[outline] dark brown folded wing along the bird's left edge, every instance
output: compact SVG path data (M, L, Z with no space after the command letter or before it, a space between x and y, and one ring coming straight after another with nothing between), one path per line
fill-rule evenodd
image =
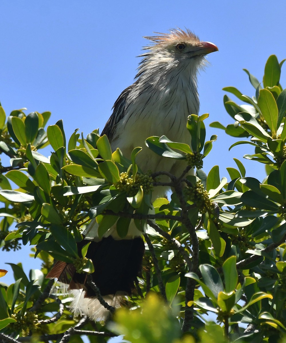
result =
M130 91L132 90L133 85L127 87L115 101L113 105L113 112L110 118L108 119L107 123L104 126L104 129L101 132L101 136L103 134L107 135L107 138L111 142L114 138L114 133L117 124L122 120L125 115L125 106L126 106L126 98L128 97Z

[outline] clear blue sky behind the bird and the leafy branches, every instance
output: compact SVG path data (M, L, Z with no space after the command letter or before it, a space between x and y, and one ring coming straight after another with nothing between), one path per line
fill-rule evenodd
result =
M207 124L218 120L227 125L232 119L223 107L222 87L253 95L242 68L262 80L268 56L286 58L285 13L285 0L2 1L0 101L7 114L22 107L27 113L51 111L50 125L63 119L68 137L76 128L85 135L102 129L114 101L133 82L139 62L135 56L147 44L142 36L186 27L219 48L199 76L200 114L210 113ZM218 164L221 177L227 177L225 167L235 167L232 158L242 161L249 147L228 152L235 140L207 128L207 137L212 134L218 140L204 168L208 172ZM243 162L247 176L263 179L263 170L257 169L261 165ZM35 268L39 264L24 259L28 251L0 251L1 261L23 261L25 270ZM12 282L11 274L1 281Z

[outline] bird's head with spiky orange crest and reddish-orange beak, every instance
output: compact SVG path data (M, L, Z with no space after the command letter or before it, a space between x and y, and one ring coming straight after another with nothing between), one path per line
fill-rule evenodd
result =
M194 69L202 67L205 56L218 51L216 45L210 42L201 42L188 29L172 29L169 33L158 33L158 36L144 37L155 44L144 47L147 50L141 56L141 67L178 67L180 64L191 65ZM193 69L193 68L192 68ZM193 70L194 70L193 69Z

